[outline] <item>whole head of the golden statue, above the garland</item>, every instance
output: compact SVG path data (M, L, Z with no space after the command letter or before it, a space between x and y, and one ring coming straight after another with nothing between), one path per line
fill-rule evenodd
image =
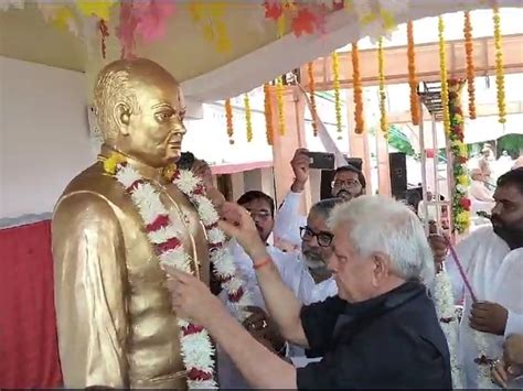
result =
M185 106L180 85L160 65L146 58L110 63L94 96L107 145L154 167L180 159Z

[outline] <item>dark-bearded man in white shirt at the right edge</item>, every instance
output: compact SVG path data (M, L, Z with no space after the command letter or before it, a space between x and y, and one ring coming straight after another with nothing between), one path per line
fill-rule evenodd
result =
M466 388L492 388L490 365L502 356L504 337L523 334L523 169L500 176L493 197L492 226L476 230L456 248L472 292L452 257L445 261L455 300L465 301L459 354ZM435 258L442 260L445 241L430 241Z

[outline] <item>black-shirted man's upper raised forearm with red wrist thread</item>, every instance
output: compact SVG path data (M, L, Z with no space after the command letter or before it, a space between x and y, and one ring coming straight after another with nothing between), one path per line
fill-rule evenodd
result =
M281 335L288 341L307 347L308 341L300 319L301 303L288 289L259 239L253 219L236 204L223 207L221 228L234 237L253 260L264 301Z

